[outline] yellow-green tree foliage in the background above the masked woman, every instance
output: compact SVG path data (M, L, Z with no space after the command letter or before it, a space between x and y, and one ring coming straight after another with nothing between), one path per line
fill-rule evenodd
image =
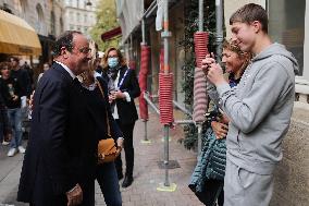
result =
M114 0L100 0L96 10L97 24L90 29L91 38L104 51L109 47L118 47L120 37L102 41L101 34L119 26Z

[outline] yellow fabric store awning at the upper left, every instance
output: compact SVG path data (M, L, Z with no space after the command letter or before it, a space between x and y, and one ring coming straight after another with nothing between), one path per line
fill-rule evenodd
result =
M0 10L0 53L41 54L41 45L35 29L24 20L2 10Z

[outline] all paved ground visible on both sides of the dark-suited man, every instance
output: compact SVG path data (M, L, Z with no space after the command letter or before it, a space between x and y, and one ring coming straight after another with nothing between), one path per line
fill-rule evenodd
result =
M175 192L159 192L159 183L164 182L164 170L158 161L163 160L162 125L154 113L148 121L150 145L144 145L144 122L138 120L134 131L135 168L134 182L127 189L121 189L123 206L199 206L202 205L187 187L189 177L196 163L196 154L186 150L177 141L183 137L181 126L170 130L170 160L177 160L181 168L169 170L170 182L177 185ZM0 206L27 206L17 203L16 192L22 168L23 155L7 157L7 147L0 146ZM120 182L122 183L122 181ZM103 206L103 196L96 185L96 205Z

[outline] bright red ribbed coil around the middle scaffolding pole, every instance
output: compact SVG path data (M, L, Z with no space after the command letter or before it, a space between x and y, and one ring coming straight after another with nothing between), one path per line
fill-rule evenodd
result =
M159 109L162 124L171 124L174 121L172 90L173 74L159 73Z

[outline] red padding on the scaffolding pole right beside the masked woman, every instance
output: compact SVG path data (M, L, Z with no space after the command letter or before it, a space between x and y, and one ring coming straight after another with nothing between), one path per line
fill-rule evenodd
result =
M148 105L144 98L144 93L147 90L147 74L149 66L150 47L143 45L140 47L140 71L138 75L138 83L140 87L139 96L139 114L143 120L148 120Z

